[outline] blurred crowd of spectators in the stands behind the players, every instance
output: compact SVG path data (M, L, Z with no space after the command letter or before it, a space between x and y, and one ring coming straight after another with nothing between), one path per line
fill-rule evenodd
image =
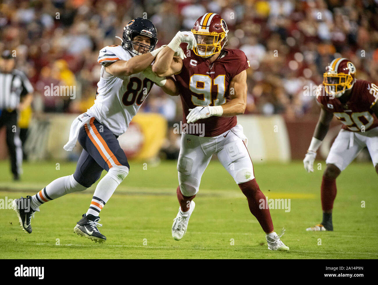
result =
M228 24L227 48L250 60L246 113L301 118L319 112L304 86L322 82L333 58L349 58L356 78L378 83L376 0L3 0L0 52L15 50L17 68L36 90L34 112L82 113L99 80L99 50L121 44L125 24L147 17L158 45L190 31L206 12ZM45 96L45 86L76 86L76 98ZM181 101L154 86L143 108L181 120Z

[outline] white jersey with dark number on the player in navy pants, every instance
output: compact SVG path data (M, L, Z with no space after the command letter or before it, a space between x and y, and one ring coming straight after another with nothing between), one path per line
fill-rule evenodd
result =
M122 46L113 45L101 49L97 60L102 64L101 76L97 83L95 104L89 111L117 136L126 132L153 85L142 72L116 77L105 71L104 64L130 58L132 55Z

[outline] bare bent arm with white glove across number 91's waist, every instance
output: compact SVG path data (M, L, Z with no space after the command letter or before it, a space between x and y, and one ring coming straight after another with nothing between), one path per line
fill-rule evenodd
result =
M246 70L232 78L229 84L229 94L231 100L222 106L198 106L194 109L189 109L189 114L186 116L187 123L194 123L211 116L232 117L243 114L247 106Z

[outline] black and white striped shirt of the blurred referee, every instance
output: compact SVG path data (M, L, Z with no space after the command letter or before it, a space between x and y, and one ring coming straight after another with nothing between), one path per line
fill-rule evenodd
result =
M20 104L20 98L32 92L33 86L20 70L0 72L0 110L16 109Z

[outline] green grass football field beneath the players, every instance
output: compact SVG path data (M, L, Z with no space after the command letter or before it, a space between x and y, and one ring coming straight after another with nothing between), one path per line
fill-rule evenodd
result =
M320 162L325 167L324 161ZM279 234L286 229L282 241L290 247L288 252L268 251L265 234L249 212L245 196L218 161L211 161L202 177L196 208L181 241L171 236L178 211L176 162L155 167L147 163L147 170L143 170L143 162L131 161L130 165L129 176L101 211L103 227L99 230L107 237L104 244L73 233L90 204L93 185L85 192L42 205L32 219L31 234L23 233L12 209L1 209L0 258L378 258L378 178L371 163L354 162L339 176L333 232L305 231L321 221L322 171L308 174L302 162L255 164L255 176L265 196L290 199L290 212L271 210L275 231ZM25 163L22 181L13 182L9 162L1 161L0 199L34 195L52 180L73 173L75 166L61 162L56 170L56 162Z

